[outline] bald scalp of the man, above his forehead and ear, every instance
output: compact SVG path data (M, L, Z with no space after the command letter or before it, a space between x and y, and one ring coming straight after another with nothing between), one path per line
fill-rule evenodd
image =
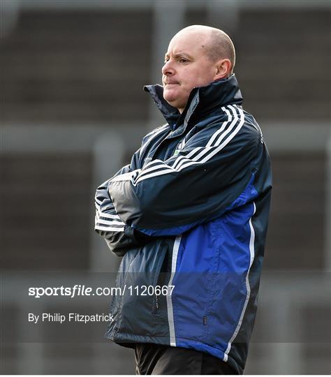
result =
M191 25L180 30L175 36L181 34L191 36L200 43L201 47L205 50L207 57L211 61L218 61L221 59L229 59L231 62L231 71L235 66L235 46L228 34L215 27L208 27L205 25Z

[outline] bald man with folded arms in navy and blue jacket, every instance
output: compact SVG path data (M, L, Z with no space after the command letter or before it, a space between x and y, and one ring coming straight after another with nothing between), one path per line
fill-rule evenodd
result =
M193 25L170 40L166 124L96 191L95 229L122 256L106 336L137 374L242 374L256 316L270 158L242 109L235 48Z

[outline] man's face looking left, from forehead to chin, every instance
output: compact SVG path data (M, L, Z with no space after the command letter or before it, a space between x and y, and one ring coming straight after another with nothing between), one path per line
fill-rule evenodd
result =
M215 64L208 59L208 36L180 31L170 41L162 68L163 98L182 112L194 87L214 81Z

